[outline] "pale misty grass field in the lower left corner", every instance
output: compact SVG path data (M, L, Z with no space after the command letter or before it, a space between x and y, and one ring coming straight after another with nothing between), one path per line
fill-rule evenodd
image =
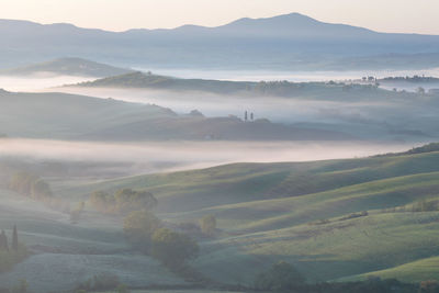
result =
M185 282L156 260L131 251L119 221L87 213L72 224L66 214L41 203L0 190L0 228L32 252L10 272L0 274L0 288L25 279L32 292L72 290L93 275L117 275L133 286L181 285Z

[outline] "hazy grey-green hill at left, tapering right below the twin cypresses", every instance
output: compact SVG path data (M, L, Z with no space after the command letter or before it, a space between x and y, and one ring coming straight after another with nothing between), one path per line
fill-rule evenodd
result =
M344 140L334 131L267 120L179 115L169 109L65 93L0 92L0 133L87 140Z

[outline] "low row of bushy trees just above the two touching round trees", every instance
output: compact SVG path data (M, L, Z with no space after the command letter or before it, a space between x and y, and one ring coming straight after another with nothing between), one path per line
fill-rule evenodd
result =
M126 215L135 211L153 210L157 205L157 199L147 191L121 189L114 194L103 191L93 192L90 204L101 213Z

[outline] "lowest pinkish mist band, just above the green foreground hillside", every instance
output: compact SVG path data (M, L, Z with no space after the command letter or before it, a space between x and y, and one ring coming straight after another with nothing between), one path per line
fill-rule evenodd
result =
M364 142L86 143L0 139L0 159L82 165L78 174L112 177L207 168L233 162L309 161L403 151L408 144ZM43 165L44 165L43 164ZM100 173L101 172L101 173ZM71 173L70 173L71 176Z

